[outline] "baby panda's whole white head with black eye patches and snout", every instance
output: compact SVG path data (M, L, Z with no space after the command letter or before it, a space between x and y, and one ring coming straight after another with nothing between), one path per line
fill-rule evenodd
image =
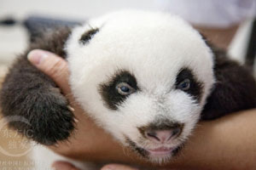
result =
M125 11L89 23L67 41L75 98L140 156L169 160L188 139L212 88L211 50L169 14Z

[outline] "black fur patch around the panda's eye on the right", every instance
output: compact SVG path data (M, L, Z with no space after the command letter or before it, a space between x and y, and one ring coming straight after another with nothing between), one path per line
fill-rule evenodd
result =
M177 74L176 82L175 82L176 88L178 89L178 85L186 79L189 79L190 86L189 86L189 89L187 89L184 92L190 94L197 101L200 101L201 94L203 91L203 83L196 80L195 75L188 68L183 68Z

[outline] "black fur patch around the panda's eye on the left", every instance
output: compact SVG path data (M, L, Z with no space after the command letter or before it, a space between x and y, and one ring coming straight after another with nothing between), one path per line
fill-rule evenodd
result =
M131 86L135 91L137 88L136 78L129 71L118 71L110 79L109 82L104 82L99 86L99 92L105 104L111 110L117 110L118 105L125 101L128 95L121 95L116 88L121 82L125 82Z

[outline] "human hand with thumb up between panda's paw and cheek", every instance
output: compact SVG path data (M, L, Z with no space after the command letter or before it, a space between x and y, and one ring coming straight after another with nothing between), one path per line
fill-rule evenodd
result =
M78 120L75 125L77 130L68 139L68 142L64 141L49 146L49 149L62 156L81 161L117 161L115 156L120 158L119 161L124 161L123 158L127 158L127 156L119 151L123 150L122 147L101 127L96 126L73 99L68 84L67 61L60 56L38 49L32 50L28 54L28 59L40 71L51 77L61 88L62 93L67 96L70 105L73 107L74 116ZM108 155L109 150L112 150L113 155ZM132 155L132 153L129 153L129 155Z

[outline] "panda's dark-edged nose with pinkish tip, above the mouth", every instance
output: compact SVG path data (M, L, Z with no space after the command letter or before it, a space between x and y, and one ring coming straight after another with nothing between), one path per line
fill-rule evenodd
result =
M139 127L138 129L144 138L154 143L168 144L173 139L177 139L183 132L183 124L172 123L169 125L160 124L159 126L151 124L148 127Z

